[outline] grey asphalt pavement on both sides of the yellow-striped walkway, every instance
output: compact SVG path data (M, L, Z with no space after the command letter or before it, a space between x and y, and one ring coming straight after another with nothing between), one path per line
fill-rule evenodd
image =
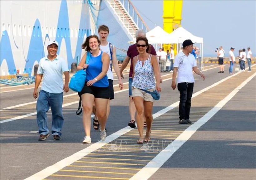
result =
M214 67L218 66L208 68ZM200 76L194 75L194 93L230 76L227 73L228 66L225 66L224 74L218 74L218 71L219 69L215 68L204 72L205 81ZM251 75L254 72L255 70ZM161 73L161 75L167 74ZM127 75L123 82L128 82ZM166 80L161 84L161 99L154 103L153 114L179 100L178 90L172 90L170 83L171 80ZM114 85L116 84L117 80L114 80ZM6 89L1 89L1 109L35 101L32 97L33 86L31 87L12 92L2 92ZM28 87L21 87L21 89L26 88ZM70 91L64 95L72 93L74 92ZM127 127L130 120L128 100L128 90L116 93L115 99L111 100L107 135ZM63 108L65 122L61 141L53 141L50 136L46 141L39 142L35 115L1 123L1 179L28 178L86 148L80 143L84 138L84 130L81 116L75 114L77 106L78 104L73 104ZM255 109L254 77L217 114L201 126L150 179L256 179ZM35 111L36 109L33 109L30 113ZM47 115L51 129L51 112L49 111ZM178 117L176 113L172 120L178 121ZM99 131L91 128L93 142L100 139L99 134ZM51 177L51 179L64 178ZM81 177L68 179L81 179Z

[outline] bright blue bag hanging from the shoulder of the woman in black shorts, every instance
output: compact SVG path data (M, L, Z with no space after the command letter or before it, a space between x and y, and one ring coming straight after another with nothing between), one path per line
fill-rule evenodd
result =
M88 64L91 53L87 51L86 64ZM86 70L81 69L77 71L71 78L69 88L75 92L81 92L86 81Z

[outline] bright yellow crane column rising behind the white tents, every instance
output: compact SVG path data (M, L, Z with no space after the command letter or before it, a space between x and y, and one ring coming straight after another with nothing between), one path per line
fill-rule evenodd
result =
M182 13L182 0L164 0L163 4L163 29L171 33L176 28L180 27L181 13ZM177 54L176 44L164 44L163 48L165 51L170 50L170 46L174 48L174 53Z

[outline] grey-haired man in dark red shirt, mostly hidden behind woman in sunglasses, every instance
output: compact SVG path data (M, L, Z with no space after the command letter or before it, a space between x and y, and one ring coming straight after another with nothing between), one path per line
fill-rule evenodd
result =
M135 33L135 37L137 39L138 37L141 37L141 36L142 37L146 37L146 33L145 33L145 31L143 29L138 29L136 31L136 33ZM153 54L153 55L156 56L155 48L151 44L150 44L150 52L148 52L148 53ZM131 128L135 128L136 127L135 126L136 108L135 108L134 102L133 102L133 100L131 98L131 84L132 84L132 73L133 73L132 59L133 59L133 57L135 57L137 55L139 55L139 53L138 53L138 51L136 49L136 44L133 44L133 45L129 46L128 51L127 51L127 56L126 56L125 60L123 61L121 69L120 69L121 76L123 76L122 72L124 71L124 69L128 65L129 61L131 60L130 73L129 73L129 97L130 97L129 112L130 112L131 120L128 123L128 125ZM144 122L144 127L147 127L146 122Z

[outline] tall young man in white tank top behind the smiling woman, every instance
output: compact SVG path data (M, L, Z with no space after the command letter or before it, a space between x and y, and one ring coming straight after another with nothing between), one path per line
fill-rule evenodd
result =
M109 82L109 91L110 91L110 94L109 94L110 98L108 100L108 106L107 106L107 117L108 117L109 113L110 113L110 100L114 99L114 87L113 87L114 75L112 72L112 64L113 64L115 73L118 78L118 84L119 84L120 90L123 89L124 85L122 83L119 66L118 66L118 61L116 59L116 47L107 41L107 37L109 34L109 28L106 25L101 25L98 28L98 34L99 34L100 41L101 41L101 45L100 45L101 51L106 52L110 57L110 64L109 64L109 68L107 71L108 82ZM93 113L96 114L96 109L94 108L94 106L93 106ZM95 118L93 119L93 128L98 130L99 127L100 127L100 125L98 122L98 118L95 116Z

